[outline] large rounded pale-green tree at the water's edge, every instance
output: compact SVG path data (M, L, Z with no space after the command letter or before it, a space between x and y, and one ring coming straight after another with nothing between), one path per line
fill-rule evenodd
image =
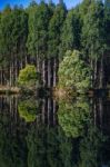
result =
M77 50L67 51L59 66L59 87L70 91L86 92L91 85L91 69Z

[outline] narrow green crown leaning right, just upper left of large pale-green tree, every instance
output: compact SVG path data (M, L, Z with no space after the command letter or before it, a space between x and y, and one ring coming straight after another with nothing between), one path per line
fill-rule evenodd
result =
M56 58L59 56L59 43L61 42L61 32L66 16L67 9L64 6L62 3L58 4L49 22L48 57Z

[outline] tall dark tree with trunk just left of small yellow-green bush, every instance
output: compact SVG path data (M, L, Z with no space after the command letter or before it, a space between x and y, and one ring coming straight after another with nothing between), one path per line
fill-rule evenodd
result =
M17 77L19 70L27 63L27 49L26 42L28 38L28 14L23 9L14 7L11 18L12 31L11 31L11 42L12 42L12 70L13 70L13 84L17 82Z

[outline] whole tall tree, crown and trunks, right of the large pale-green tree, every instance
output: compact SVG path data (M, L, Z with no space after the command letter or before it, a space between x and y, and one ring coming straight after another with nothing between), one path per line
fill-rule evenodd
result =
M86 60L93 69L92 81L94 87L103 86L103 53L104 40L104 8L102 1L92 1L83 17L82 51ZM99 68L98 68L99 67Z

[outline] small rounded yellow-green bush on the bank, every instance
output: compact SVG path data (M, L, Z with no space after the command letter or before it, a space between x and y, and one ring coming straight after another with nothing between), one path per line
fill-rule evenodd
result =
M21 87L38 87L39 86L39 73L32 65L27 65L24 69L20 70L18 84Z

